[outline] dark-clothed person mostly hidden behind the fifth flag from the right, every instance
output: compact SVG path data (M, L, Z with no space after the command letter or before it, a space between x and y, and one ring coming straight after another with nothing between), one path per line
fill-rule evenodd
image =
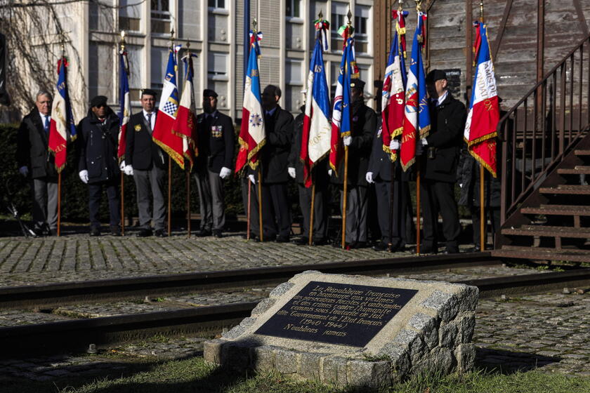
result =
M295 241L296 244L309 244L309 225L311 211L312 187L306 187L303 182L303 162L299 159L301 155L301 134L303 133L303 118L305 117L305 105L301 107L301 113L295 118L293 142L289 153L289 176L297 182L299 190L299 207L303 215L303 227L301 238ZM329 175L327 173L327 158L319 161L313 169L313 181L315 182L315 199L313 201L313 244L321 246L327 244L328 232L328 204L329 204Z

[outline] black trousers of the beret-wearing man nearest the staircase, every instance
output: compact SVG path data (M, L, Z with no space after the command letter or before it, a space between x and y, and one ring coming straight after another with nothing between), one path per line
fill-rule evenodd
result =
M438 248L438 215L442 216L442 234L447 241L447 251L457 252L457 239L461 232L459 212L454 199L454 183L422 179L420 182L422 218L424 220L424 237L421 246L426 249Z

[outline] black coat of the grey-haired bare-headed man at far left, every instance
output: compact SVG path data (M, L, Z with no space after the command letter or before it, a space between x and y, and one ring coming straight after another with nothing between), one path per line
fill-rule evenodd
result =
M16 161L18 168L27 166L33 179L57 177L55 159L48 151L49 135L41 124L37 108L22 119L16 140Z

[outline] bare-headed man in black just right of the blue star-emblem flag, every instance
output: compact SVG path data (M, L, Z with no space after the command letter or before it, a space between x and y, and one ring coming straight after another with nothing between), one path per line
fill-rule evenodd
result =
M293 116L282 109L278 102L281 89L268 85L262 93L266 142L261 149L262 216L264 240L289 241L291 233L291 207L287 195L287 166L293 138ZM258 175L250 171L251 182ZM276 218L276 220L275 220Z

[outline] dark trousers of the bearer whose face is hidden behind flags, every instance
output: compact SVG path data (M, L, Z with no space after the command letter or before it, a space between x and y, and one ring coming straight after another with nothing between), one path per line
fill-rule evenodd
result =
M391 244L393 247L403 247L410 241L407 239L408 232L408 201L409 187L407 182L394 180L393 182L393 216L391 216L391 182L388 180L375 180L375 192L377 194L377 208L379 227L381 228L381 241L390 242L389 228L391 227ZM390 218L393 222L390 224ZM412 222L412 217L409 217Z

